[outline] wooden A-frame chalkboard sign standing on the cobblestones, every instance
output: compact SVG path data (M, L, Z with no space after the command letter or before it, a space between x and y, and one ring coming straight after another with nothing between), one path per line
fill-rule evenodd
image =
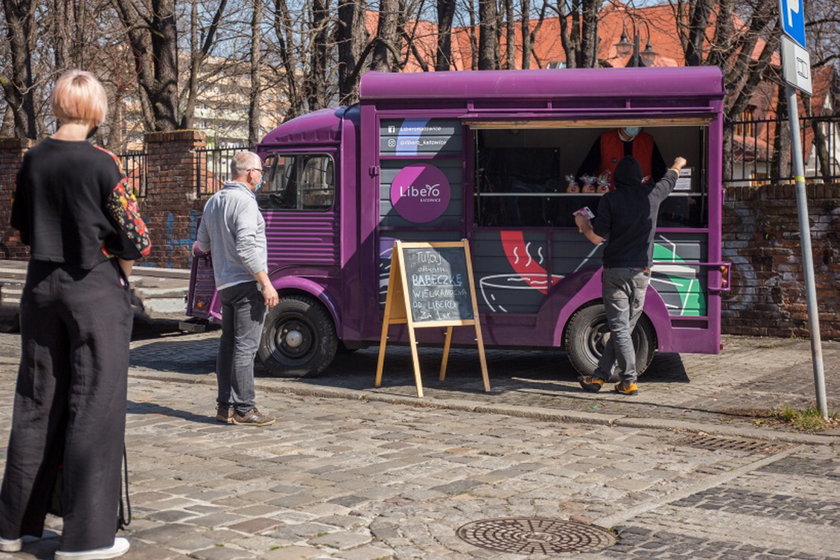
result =
M474 325L484 390L490 390L478 303L473 286L472 260L466 239L439 243L394 243L374 386L382 385L382 369L385 364L385 347L388 344L390 325L408 327L408 343L414 364L418 397L423 396L423 381L420 377L420 359L417 355L414 330L423 327L446 327L443 359L438 374L438 379L443 381L446 378L446 365L452 344L452 328Z

